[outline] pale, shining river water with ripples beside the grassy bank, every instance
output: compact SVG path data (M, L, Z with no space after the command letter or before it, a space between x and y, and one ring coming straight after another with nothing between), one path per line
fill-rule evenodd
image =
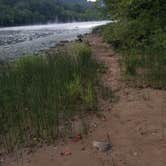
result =
M55 46L60 41L75 40L94 27L110 21L76 22L0 28L0 60L30 55Z

